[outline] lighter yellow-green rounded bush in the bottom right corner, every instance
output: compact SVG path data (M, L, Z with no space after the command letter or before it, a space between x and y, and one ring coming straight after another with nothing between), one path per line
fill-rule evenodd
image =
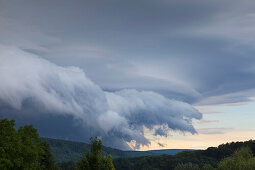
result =
M243 147L230 157L223 159L218 166L218 170L254 170L255 158L250 148Z

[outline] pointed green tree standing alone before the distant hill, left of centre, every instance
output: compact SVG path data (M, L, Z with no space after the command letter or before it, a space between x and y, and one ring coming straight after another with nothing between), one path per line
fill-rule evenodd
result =
M90 152L82 155L82 158L77 162L77 170L115 170L111 155L103 156L102 140L90 138Z

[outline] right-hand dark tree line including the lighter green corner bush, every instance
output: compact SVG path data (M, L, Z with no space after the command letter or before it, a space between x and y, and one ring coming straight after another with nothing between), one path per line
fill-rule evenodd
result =
M117 170L254 170L255 141L231 142L206 150L113 160Z

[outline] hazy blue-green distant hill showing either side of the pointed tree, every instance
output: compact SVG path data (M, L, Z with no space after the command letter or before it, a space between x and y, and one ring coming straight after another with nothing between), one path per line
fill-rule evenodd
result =
M83 142L74 142L61 139L43 138L49 143L51 151L58 162L64 161L76 161L80 158L84 149L89 150L90 145ZM182 151L190 151L191 149L162 149L162 150L150 150L150 151L122 151L110 147L103 146L103 153L111 154L113 158L126 158L135 156L147 156L147 155L175 155Z

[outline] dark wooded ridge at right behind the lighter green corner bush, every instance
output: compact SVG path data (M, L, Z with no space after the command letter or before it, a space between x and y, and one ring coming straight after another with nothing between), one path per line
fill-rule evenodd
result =
M206 150L184 151L174 156L154 155L117 158L113 160L113 163L117 170L174 170L177 166L179 169L181 169L181 167L192 166L192 168L196 168L198 166L200 169L210 170L217 168L221 160L231 156L236 150L242 147L250 148L251 154L254 155L255 141L250 140L246 142L222 144L218 147L210 147Z

